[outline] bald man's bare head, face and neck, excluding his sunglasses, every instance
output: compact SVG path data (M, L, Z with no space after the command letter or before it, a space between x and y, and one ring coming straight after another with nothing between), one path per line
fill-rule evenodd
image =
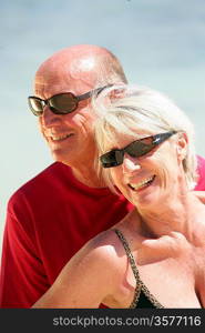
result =
M125 81L117 60L106 49L76 46L54 53L42 63L35 74L34 93L41 99L68 91L80 95L122 79ZM54 160L70 165L82 183L101 188L104 183L98 179L93 167L96 154L94 120L95 113L89 99L81 101L74 112L65 115L54 114L45 107L39 125ZM64 139L54 141L54 137Z

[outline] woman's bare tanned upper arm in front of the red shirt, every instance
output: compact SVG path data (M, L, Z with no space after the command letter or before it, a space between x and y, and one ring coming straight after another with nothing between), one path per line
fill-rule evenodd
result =
M32 307L99 307L116 282L110 246L89 242L62 269L53 285Z

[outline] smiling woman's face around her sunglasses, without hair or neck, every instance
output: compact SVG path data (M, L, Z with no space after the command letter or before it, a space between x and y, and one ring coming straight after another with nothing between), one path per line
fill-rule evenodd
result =
M141 133L140 138L148 135ZM110 169L114 184L137 208L162 205L164 200L178 193L182 184L185 185L181 155L186 142L185 139L183 142L178 140L177 135L174 134L143 157L132 158L125 153L123 163ZM117 147L109 150L122 149L132 141L129 137L121 138Z

